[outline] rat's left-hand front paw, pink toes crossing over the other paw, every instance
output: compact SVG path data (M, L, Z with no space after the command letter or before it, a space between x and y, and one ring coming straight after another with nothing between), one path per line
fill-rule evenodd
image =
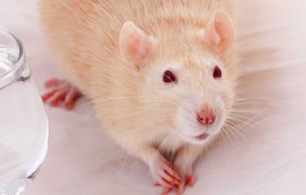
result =
M156 182L155 185L162 185L170 190L180 185L181 179L178 173L170 168L170 163L163 157L158 157L150 164L150 172Z

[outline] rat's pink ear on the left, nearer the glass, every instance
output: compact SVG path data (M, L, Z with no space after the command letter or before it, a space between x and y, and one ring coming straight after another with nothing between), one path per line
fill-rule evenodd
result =
M121 28L119 47L127 60L138 64L149 55L152 41L144 31L128 21Z

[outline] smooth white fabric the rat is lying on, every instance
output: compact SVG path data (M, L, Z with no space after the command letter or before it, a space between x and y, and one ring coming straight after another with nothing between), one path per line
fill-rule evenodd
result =
M239 94L257 102L244 101L239 106L261 112L241 113L254 121L246 120L251 126L241 122L244 131L235 127L249 143L239 133L233 132L235 138L228 132L231 140L224 134L224 141L208 147L195 166L194 187L184 194L306 194L305 10L306 2L297 0L238 3L236 43L241 63L247 67L240 87L267 84ZM59 74L38 28L36 1L1 1L0 16L0 24L22 39L33 75L44 92L44 80ZM83 98L78 105L86 101ZM47 106L47 113L49 153L24 194L161 192L160 187L152 186L148 167L103 133L90 105L69 112Z

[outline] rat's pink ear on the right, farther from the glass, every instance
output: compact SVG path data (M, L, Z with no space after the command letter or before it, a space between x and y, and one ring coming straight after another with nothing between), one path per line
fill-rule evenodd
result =
M208 21L201 36L222 51L231 48L234 41L234 25L229 15L223 10L217 10Z

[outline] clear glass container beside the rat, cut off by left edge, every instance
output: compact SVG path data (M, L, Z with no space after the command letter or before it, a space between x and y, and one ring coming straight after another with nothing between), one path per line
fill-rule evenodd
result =
M0 195L32 182L48 148L48 120L19 38L0 27Z

